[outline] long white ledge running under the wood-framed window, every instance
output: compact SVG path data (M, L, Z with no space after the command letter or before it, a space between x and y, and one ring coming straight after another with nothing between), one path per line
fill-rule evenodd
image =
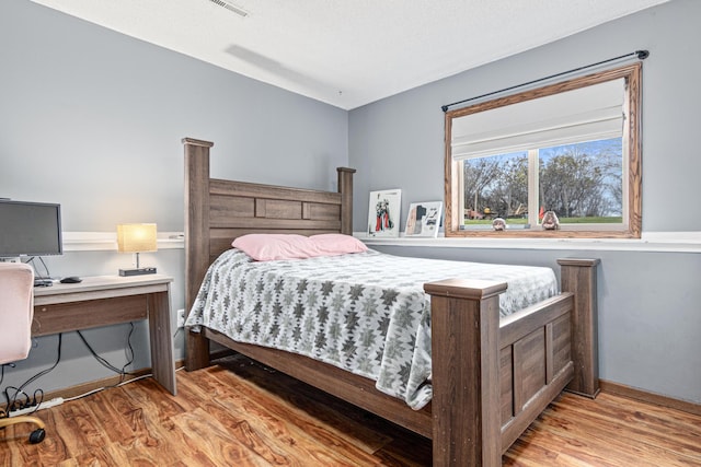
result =
M439 234L441 235L441 234ZM701 253L701 232L643 232L642 238L483 238L483 237L371 237L354 236L368 246L417 246L482 249L568 249L611 252Z

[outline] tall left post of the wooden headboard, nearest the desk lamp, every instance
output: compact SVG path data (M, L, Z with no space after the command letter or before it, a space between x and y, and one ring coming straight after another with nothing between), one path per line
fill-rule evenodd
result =
M184 138L185 145L185 313L195 302L209 266L209 141ZM185 369L209 365L209 340L185 332Z

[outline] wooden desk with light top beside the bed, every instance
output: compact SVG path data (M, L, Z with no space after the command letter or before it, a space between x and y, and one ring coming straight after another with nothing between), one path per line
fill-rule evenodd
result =
M170 283L161 275L85 277L34 289L32 336L149 319L153 378L175 395Z

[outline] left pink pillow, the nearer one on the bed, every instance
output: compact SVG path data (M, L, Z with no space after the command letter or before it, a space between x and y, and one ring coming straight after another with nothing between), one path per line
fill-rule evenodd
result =
M231 246L257 261L304 259L319 256L313 243L304 235L248 234L235 238Z

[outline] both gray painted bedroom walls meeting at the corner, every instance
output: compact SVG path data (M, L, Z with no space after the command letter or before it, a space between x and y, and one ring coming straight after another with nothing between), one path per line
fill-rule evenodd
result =
M691 55L701 39L698 17L701 2L673 0L346 113L28 0L2 1L0 197L61 202L69 232L114 232L120 222L181 231L180 140L193 137L215 141L214 176L335 189L334 167L356 167L354 225L363 231L369 190L402 188L404 213L409 202L443 199L443 104L646 48L652 55L643 71L643 227L701 231L694 138L701 66ZM701 401L697 254L381 249L550 266L560 256L599 257L601 376ZM184 302L183 252L143 256L175 278L174 313ZM124 267L124 257L70 252L47 262L54 276L106 275ZM127 332L128 326L112 326L87 337L122 365ZM38 339L31 358L8 371L3 386L50 366L56 340ZM147 341L141 323L133 337L135 369L149 364ZM176 342L182 357L181 336ZM32 389L111 374L74 335L66 336L61 359Z

